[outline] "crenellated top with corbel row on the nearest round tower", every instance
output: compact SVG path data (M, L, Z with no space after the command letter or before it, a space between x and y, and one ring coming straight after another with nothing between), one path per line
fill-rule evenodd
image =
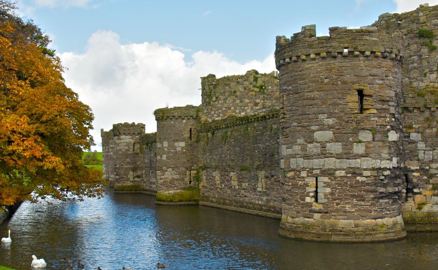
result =
M277 36L275 62L277 69L291 62L323 58L376 57L401 61L404 56L403 34L379 31L377 27L359 29L330 27L329 35L316 37L316 26L305 25L290 39Z

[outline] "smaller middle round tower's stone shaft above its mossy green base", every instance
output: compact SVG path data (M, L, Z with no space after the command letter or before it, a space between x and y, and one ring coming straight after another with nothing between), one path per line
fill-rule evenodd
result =
M155 110L157 193L176 193L194 185L197 113L198 107L192 105Z

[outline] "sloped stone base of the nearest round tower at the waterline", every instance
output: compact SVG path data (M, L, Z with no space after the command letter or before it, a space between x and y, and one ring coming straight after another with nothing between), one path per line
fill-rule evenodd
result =
M283 215L279 233L289 238L320 242L382 242L406 237L401 215L362 220L287 218Z

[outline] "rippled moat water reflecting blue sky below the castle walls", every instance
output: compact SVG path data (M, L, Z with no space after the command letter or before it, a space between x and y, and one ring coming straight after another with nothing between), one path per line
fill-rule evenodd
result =
M0 265L31 269L32 255L47 269L434 269L438 233L405 240L329 244L278 236L280 221L208 207L155 205L145 194L109 192L83 202L23 203L0 225L12 243L0 246ZM73 265L73 264L72 264ZM75 266L75 269L76 266Z

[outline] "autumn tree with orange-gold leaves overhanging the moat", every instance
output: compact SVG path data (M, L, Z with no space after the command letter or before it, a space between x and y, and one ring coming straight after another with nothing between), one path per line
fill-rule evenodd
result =
M0 205L52 196L101 196L101 173L85 168L93 114L66 87L50 39L0 0Z

